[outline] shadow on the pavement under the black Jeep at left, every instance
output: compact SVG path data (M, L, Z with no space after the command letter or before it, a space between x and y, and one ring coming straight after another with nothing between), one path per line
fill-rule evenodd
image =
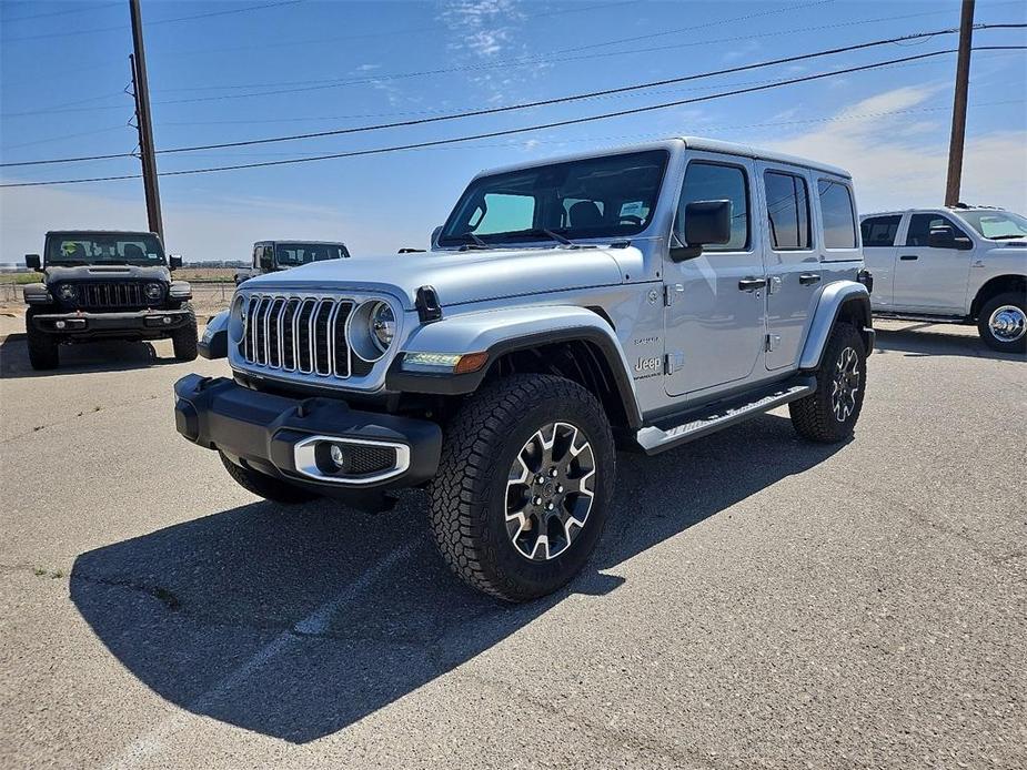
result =
M122 372L173 363L174 358L159 356L148 342L98 341L61 345L60 366L37 372L29 363L29 348L23 334L11 334L0 341L0 379Z

